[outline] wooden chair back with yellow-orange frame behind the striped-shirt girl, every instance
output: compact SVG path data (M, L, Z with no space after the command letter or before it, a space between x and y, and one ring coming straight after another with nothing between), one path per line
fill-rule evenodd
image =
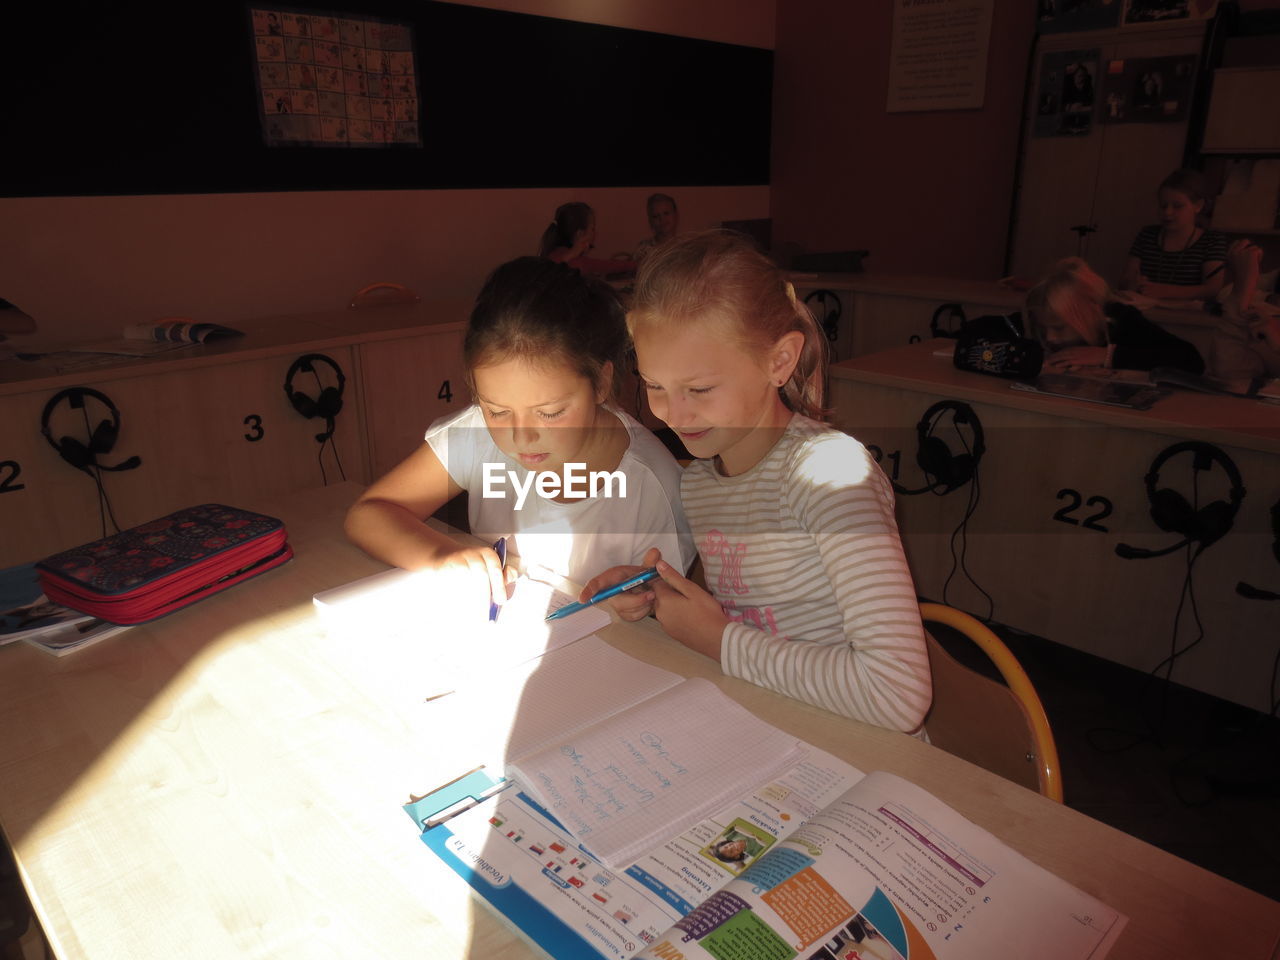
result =
M984 677L948 654L925 631L933 671L933 705L924 721L942 750L1006 780L1062 801L1062 773L1053 731L1036 687L1004 641L964 611L922 603L925 626L957 630L991 658L1005 684Z

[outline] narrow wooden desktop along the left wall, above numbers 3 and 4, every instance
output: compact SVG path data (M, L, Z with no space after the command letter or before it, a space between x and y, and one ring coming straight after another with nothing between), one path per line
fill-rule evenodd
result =
M285 353L323 353L353 343L392 340L431 330L461 330L466 326L471 306L470 301L447 300L265 316L228 324L243 332L243 337L229 337L151 357L120 357L104 366L65 372L58 372L38 360L0 360L0 397L32 390L58 390L86 380L102 383ZM13 342L9 346L19 352L41 352L69 349L73 344L37 347Z

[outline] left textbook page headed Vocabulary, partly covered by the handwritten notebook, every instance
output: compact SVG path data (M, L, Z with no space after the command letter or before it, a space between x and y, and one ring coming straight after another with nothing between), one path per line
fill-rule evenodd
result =
M782 776L618 868L602 864L547 810L512 791L425 828L422 842L557 960L626 960L860 776L810 750ZM483 792L483 783L470 786ZM452 799L426 797L404 809L424 827Z

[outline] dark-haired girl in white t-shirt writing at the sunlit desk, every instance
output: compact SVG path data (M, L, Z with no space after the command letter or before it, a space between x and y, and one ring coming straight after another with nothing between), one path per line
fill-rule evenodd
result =
M499 266L463 340L475 402L431 424L426 443L361 495L347 535L406 570L472 570L502 603L498 554L422 522L466 490L471 532L509 538L530 572L582 582L654 544L687 568L680 466L611 403L626 348L622 306L603 282L540 257ZM589 484L593 472L613 476Z

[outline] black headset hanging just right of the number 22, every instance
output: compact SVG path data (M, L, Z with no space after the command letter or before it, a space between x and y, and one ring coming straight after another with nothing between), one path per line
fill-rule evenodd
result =
M1231 484L1231 492L1225 500L1213 500L1201 508L1192 507L1178 490L1171 486L1160 486L1160 468L1179 453L1193 453L1192 470L1211 470L1213 463L1222 467ZM1164 547L1158 550L1148 550L1142 547L1129 544L1116 544L1116 554L1125 559L1148 559L1151 557L1164 557L1189 543L1198 543L1196 554L1206 547L1221 540L1231 529L1231 522L1240 509L1240 500L1244 499L1244 484L1240 480L1240 471L1231 458L1220 448L1211 443L1199 440L1184 440L1166 447L1152 461L1151 470L1144 477L1147 484L1147 500L1151 503L1151 518L1161 530L1179 534L1183 539L1172 547Z

